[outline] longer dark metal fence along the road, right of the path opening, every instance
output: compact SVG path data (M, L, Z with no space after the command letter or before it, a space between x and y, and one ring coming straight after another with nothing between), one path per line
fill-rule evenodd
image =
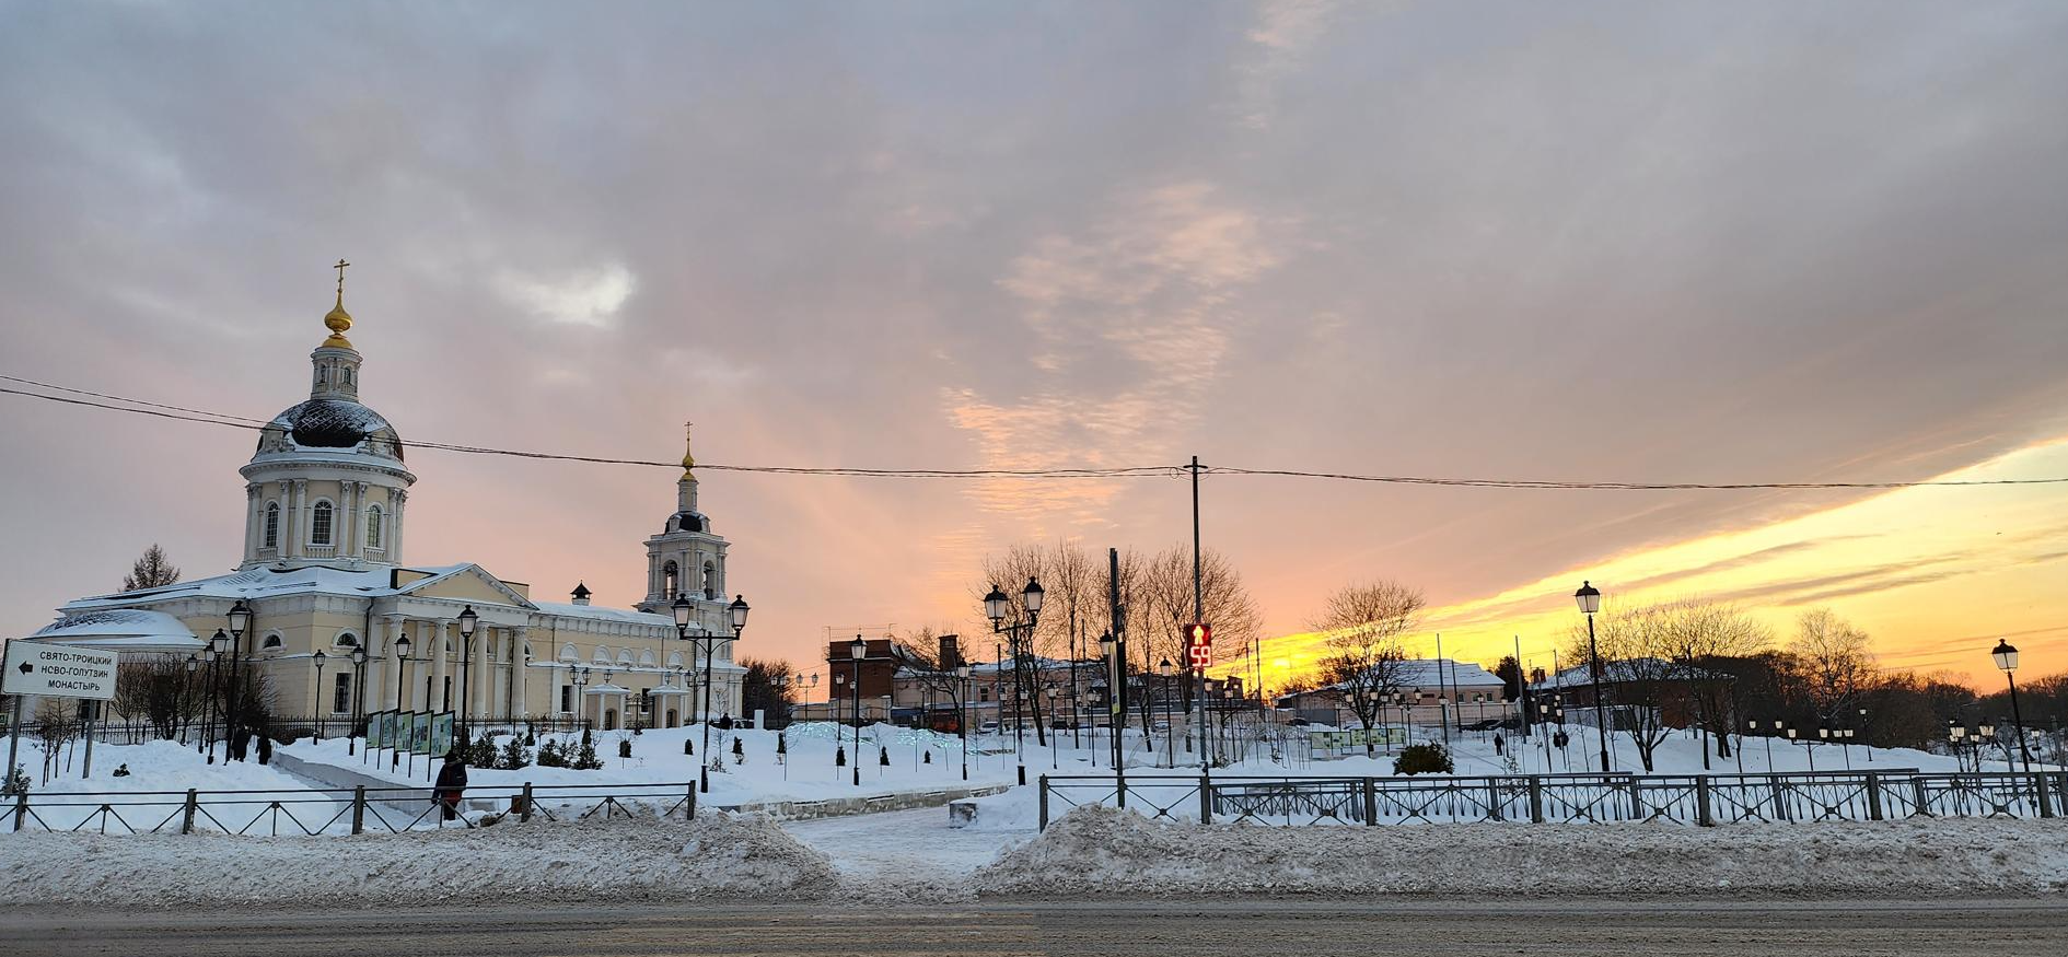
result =
M2068 816L2068 773L1830 771L1766 775L1206 777L1044 775L1040 827L1088 804L1152 819L1301 825L1681 825Z

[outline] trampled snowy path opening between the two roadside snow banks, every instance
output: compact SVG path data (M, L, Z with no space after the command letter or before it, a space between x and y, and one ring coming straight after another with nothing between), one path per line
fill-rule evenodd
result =
M976 868L1007 843L1034 837L1032 829L947 827L947 808L792 821L782 829L831 858L850 893L904 887L947 899L972 897L968 878Z

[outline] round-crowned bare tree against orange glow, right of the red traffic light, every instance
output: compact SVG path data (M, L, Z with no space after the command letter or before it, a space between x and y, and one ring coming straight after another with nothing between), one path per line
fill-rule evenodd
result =
M1321 674L1336 699L1365 726L1365 754L1373 754L1371 726L1381 699L1400 688L1406 651L1400 637L1421 622L1423 593L1394 583L1346 585L1328 595L1328 608L1309 626L1324 635L1328 657Z

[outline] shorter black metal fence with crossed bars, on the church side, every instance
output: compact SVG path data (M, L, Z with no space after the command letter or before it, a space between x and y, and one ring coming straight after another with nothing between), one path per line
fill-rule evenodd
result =
M467 788L447 821L430 788L256 792L25 792L0 802L0 833L360 835L478 827L484 816L583 821L697 814L697 781Z

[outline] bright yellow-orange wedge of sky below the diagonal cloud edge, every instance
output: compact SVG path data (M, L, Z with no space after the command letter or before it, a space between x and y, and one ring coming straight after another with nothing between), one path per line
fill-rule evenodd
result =
M1940 482L2068 473L2068 436L1938 475ZM1497 595L1433 608L1410 657L1489 670L1520 641L1524 670L1553 670L1553 649L1582 622L1572 591L1588 579L1611 601L1735 601L1787 647L1795 618L1830 606L1874 637L1884 670L1954 672L1983 692L2002 684L1989 647L2008 637L2020 676L2068 670L2068 486L1900 488L1768 525L1640 548ZM1264 684L1309 678L1326 655L1315 632L1264 641ZM1572 666L1572 661L1557 661ZM1241 674L1224 661L1216 674Z

